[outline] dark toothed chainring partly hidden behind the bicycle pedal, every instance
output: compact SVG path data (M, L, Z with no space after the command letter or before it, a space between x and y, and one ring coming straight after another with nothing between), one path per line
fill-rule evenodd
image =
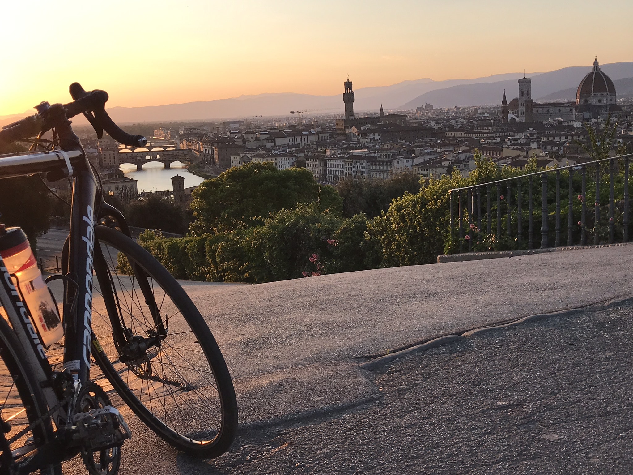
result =
M90 381L79 391L75 413L110 406L110 398L97 383ZM95 452L82 450L84 465L91 475L116 475L121 464L121 448L111 447Z

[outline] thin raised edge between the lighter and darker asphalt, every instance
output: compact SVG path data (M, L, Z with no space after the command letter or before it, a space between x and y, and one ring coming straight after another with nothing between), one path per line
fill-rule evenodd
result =
M430 339L429 341L425 341L425 343L421 343L420 345L410 346L409 348L404 348L404 350L399 350L398 352L389 353L388 355L384 355L381 357L377 357L373 360L370 360L365 363L361 363L358 365L361 369L366 371L373 371L382 367L386 364L391 363L394 360L399 360L400 358L407 357L409 355L415 355L415 353L425 352L426 350L430 350L432 348L437 348L439 346L447 345L448 343L453 343L454 341L461 341L466 338L470 338L475 335L480 335L483 333L487 333L489 331L505 329L508 327L518 326L528 322L534 322L536 320L548 319L552 317L562 317L564 315L572 315L578 312L595 312L596 310L604 310L606 308L615 307L616 305L622 305L623 303L633 303L633 294L625 295L622 297L617 297L611 300L603 301L603 302L595 302L590 303L589 305L585 305L584 307L577 308L568 308L566 310L557 310L556 312L551 312L549 314L534 314L528 315L527 317L522 317L517 320L513 320L511 322L500 322L499 324L492 324L487 327L477 327L471 330L465 331L460 335L445 335L439 336L437 338Z

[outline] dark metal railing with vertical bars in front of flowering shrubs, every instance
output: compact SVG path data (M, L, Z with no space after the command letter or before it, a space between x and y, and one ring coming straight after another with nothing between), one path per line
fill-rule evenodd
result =
M541 182L541 200L536 206L540 204L541 208L541 248L548 248L552 243L561 246L565 232L561 203L567 208L563 210L567 214L567 246L586 245L591 234L595 245L628 242L631 156L633 154L613 156L449 190L451 250L533 249L534 194L538 191L538 181ZM561 187L561 179L567 181L567 186L563 182ZM608 198L604 187L607 185ZM618 196L615 196L616 187ZM595 195L593 206L587 205L588 192ZM486 201L483 210L482 198ZM608 205L601 204L607 200Z

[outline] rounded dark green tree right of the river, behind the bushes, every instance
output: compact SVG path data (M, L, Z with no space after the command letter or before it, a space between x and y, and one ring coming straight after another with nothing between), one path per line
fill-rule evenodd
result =
M263 222L270 213L298 203L318 203L340 213L342 200L331 186L315 182L306 168L277 170L272 163L247 163L204 181L193 193L195 234L218 233Z

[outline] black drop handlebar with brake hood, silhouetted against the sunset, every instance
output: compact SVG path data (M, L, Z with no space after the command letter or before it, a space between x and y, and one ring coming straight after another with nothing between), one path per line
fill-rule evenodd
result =
M97 137L101 138L101 131L105 130L110 137L119 143L129 146L146 146L147 139L145 137L128 134L108 116L105 109L106 101L108 101L108 92L100 91L99 89L84 91L84 88L78 82L73 82L69 89L70 95L75 100L63 105L66 111L66 118L83 114L94 127ZM46 132L46 130L54 127L54 125L47 124L46 110L46 108L42 108L35 115L25 117L3 127L3 130L0 130L0 143L19 141L20 139L35 136L40 132Z

